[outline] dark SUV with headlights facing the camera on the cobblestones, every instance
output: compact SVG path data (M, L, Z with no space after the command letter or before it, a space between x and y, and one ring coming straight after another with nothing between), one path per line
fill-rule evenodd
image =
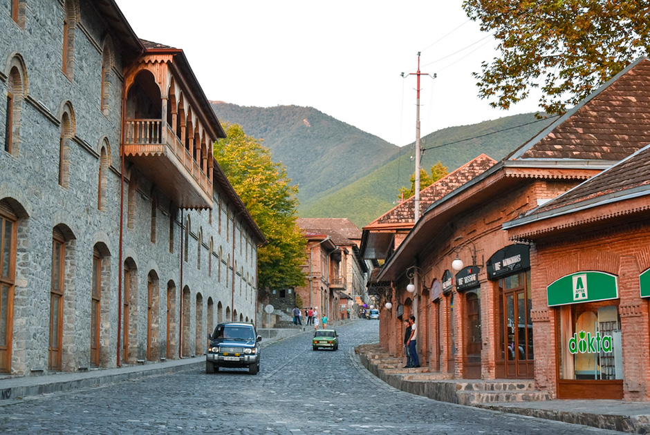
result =
M250 323L220 323L214 334L207 334L210 346L205 355L205 373L219 367L248 367L248 373L259 371L259 342L262 337Z

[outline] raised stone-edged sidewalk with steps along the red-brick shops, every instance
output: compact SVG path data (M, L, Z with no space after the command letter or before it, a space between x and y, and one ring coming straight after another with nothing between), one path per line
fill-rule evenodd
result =
M427 367L400 368L404 365L404 358L393 358L376 344L358 346L355 351L366 369L385 383L404 392L498 412L631 434L650 434L650 402L536 400L540 394L544 396L546 392L527 390L523 380L513 383L511 380L449 379L446 374L430 372ZM488 390L490 387L486 385L491 387L490 391L477 390ZM505 401L504 398L510 401ZM531 398L533 400L530 400Z

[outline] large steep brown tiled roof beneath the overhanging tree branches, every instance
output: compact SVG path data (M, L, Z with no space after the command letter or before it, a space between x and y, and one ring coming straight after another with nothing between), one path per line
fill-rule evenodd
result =
M622 160L650 143L650 60L642 57L510 159Z

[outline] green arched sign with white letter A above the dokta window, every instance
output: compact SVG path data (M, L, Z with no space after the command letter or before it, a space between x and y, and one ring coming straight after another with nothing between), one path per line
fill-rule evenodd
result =
M577 272L546 287L549 307L618 299L618 277L604 272Z

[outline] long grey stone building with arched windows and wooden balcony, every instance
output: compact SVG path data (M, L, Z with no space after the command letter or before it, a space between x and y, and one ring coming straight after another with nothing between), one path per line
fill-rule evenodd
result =
M255 322L264 237L183 51L113 0L0 6L0 371L203 354Z

